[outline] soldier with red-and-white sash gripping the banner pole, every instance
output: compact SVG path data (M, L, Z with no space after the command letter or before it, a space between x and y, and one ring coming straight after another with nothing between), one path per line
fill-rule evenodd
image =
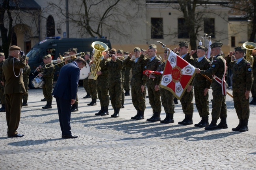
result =
M215 42L211 44L211 54L213 57L213 62L210 69L200 70L197 68L196 72L200 74L205 74L207 76L216 76L220 80L226 75L226 61L221 56L221 46L222 42ZM217 79L218 79L217 78ZM217 80L213 80L211 83L212 87L212 110L211 110L211 123L209 126L205 127L205 130L213 130L217 128L228 128L226 123L227 118L227 107L226 107L226 95L223 93L223 88L226 88L226 84L223 82L224 86L221 86ZM221 122L217 125L218 119L221 118Z

